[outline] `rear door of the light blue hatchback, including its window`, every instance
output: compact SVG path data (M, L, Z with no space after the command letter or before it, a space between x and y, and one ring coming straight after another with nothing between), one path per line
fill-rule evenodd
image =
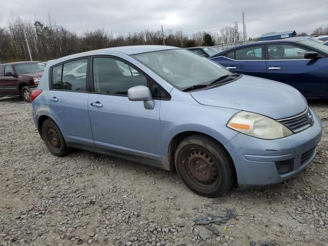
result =
M51 67L48 106L67 142L94 147L88 112L89 58ZM74 68L80 67L79 74Z

